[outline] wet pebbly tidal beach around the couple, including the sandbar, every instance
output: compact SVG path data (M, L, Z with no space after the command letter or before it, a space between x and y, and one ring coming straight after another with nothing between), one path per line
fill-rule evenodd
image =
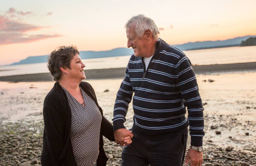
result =
M205 66L193 66L204 104L203 165L255 165L255 62ZM124 70L125 68L115 68L85 72L87 78L84 81L95 89L98 103L110 122ZM93 77L93 71L99 75ZM40 74L28 75L30 76L10 76L10 80L6 79L7 82L0 82L1 166L26 162L39 166L41 163L43 101L54 82L51 77L32 77ZM4 80L3 77L0 79ZM132 127L132 117L131 102L126 116L126 128ZM104 141L109 158L107 165L121 165L122 146L105 138ZM189 145L190 136L187 149Z

